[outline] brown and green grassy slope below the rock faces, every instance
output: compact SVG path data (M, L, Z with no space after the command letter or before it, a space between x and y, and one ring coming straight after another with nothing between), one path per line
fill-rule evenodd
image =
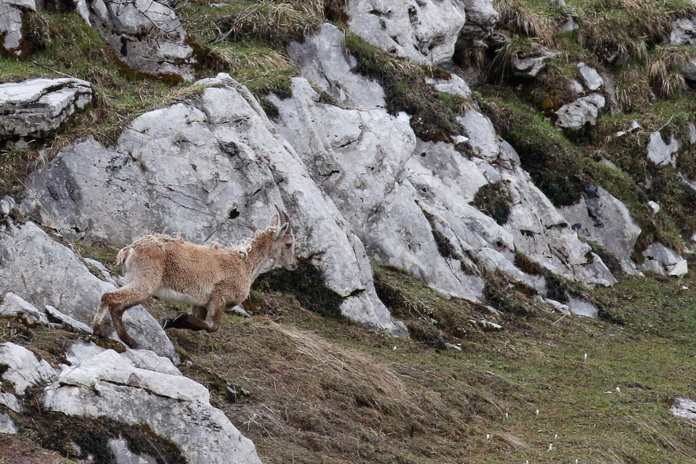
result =
M391 277L400 295L440 317L461 312L456 301ZM503 314L502 332L466 326L461 352L321 317L269 290L253 294L252 319L225 316L218 333L169 335L184 375L209 388L264 463L696 460L693 427L668 410L675 396L694 394L696 278L629 279L594 296L624 325L539 309ZM175 311L151 306L156 317ZM0 321L0 341L52 362L74 337ZM228 387L251 396L235 398ZM16 440L15 448L31 445Z

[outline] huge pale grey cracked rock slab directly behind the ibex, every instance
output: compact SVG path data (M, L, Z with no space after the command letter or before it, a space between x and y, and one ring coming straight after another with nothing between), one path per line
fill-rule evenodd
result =
M41 205L42 222L68 239L124 246L157 231L235 245L284 205L296 254L345 297L343 314L405 335L374 293L361 241L258 102L226 74L202 83L220 87L145 113L116 147L88 140L63 150L31 176L22 208Z

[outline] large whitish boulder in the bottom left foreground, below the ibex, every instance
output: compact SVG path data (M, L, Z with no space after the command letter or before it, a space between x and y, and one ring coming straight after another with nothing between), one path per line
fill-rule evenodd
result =
M210 405L208 390L182 376L168 359L144 350L118 354L88 346L72 351L74 364L45 389L45 408L148 426L177 445L189 463L260 464L251 440ZM118 445L109 441L112 449ZM134 458L128 450L120 455Z

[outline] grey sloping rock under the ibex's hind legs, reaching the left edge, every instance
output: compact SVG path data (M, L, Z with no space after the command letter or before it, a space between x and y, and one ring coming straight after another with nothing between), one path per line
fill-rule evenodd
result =
M102 294L114 288L92 275L72 251L33 223L10 225L0 233L0 294L13 290L33 305L60 307L90 326ZM144 348L177 359L164 330L145 308L127 311L123 321Z

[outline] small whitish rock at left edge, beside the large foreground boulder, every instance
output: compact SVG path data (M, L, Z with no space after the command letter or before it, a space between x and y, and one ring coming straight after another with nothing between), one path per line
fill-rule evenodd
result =
M56 371L48 362L39 361L24 346L10 342L0 343L0 367L1 380L13 385L20 396L33 385L56 380Z

